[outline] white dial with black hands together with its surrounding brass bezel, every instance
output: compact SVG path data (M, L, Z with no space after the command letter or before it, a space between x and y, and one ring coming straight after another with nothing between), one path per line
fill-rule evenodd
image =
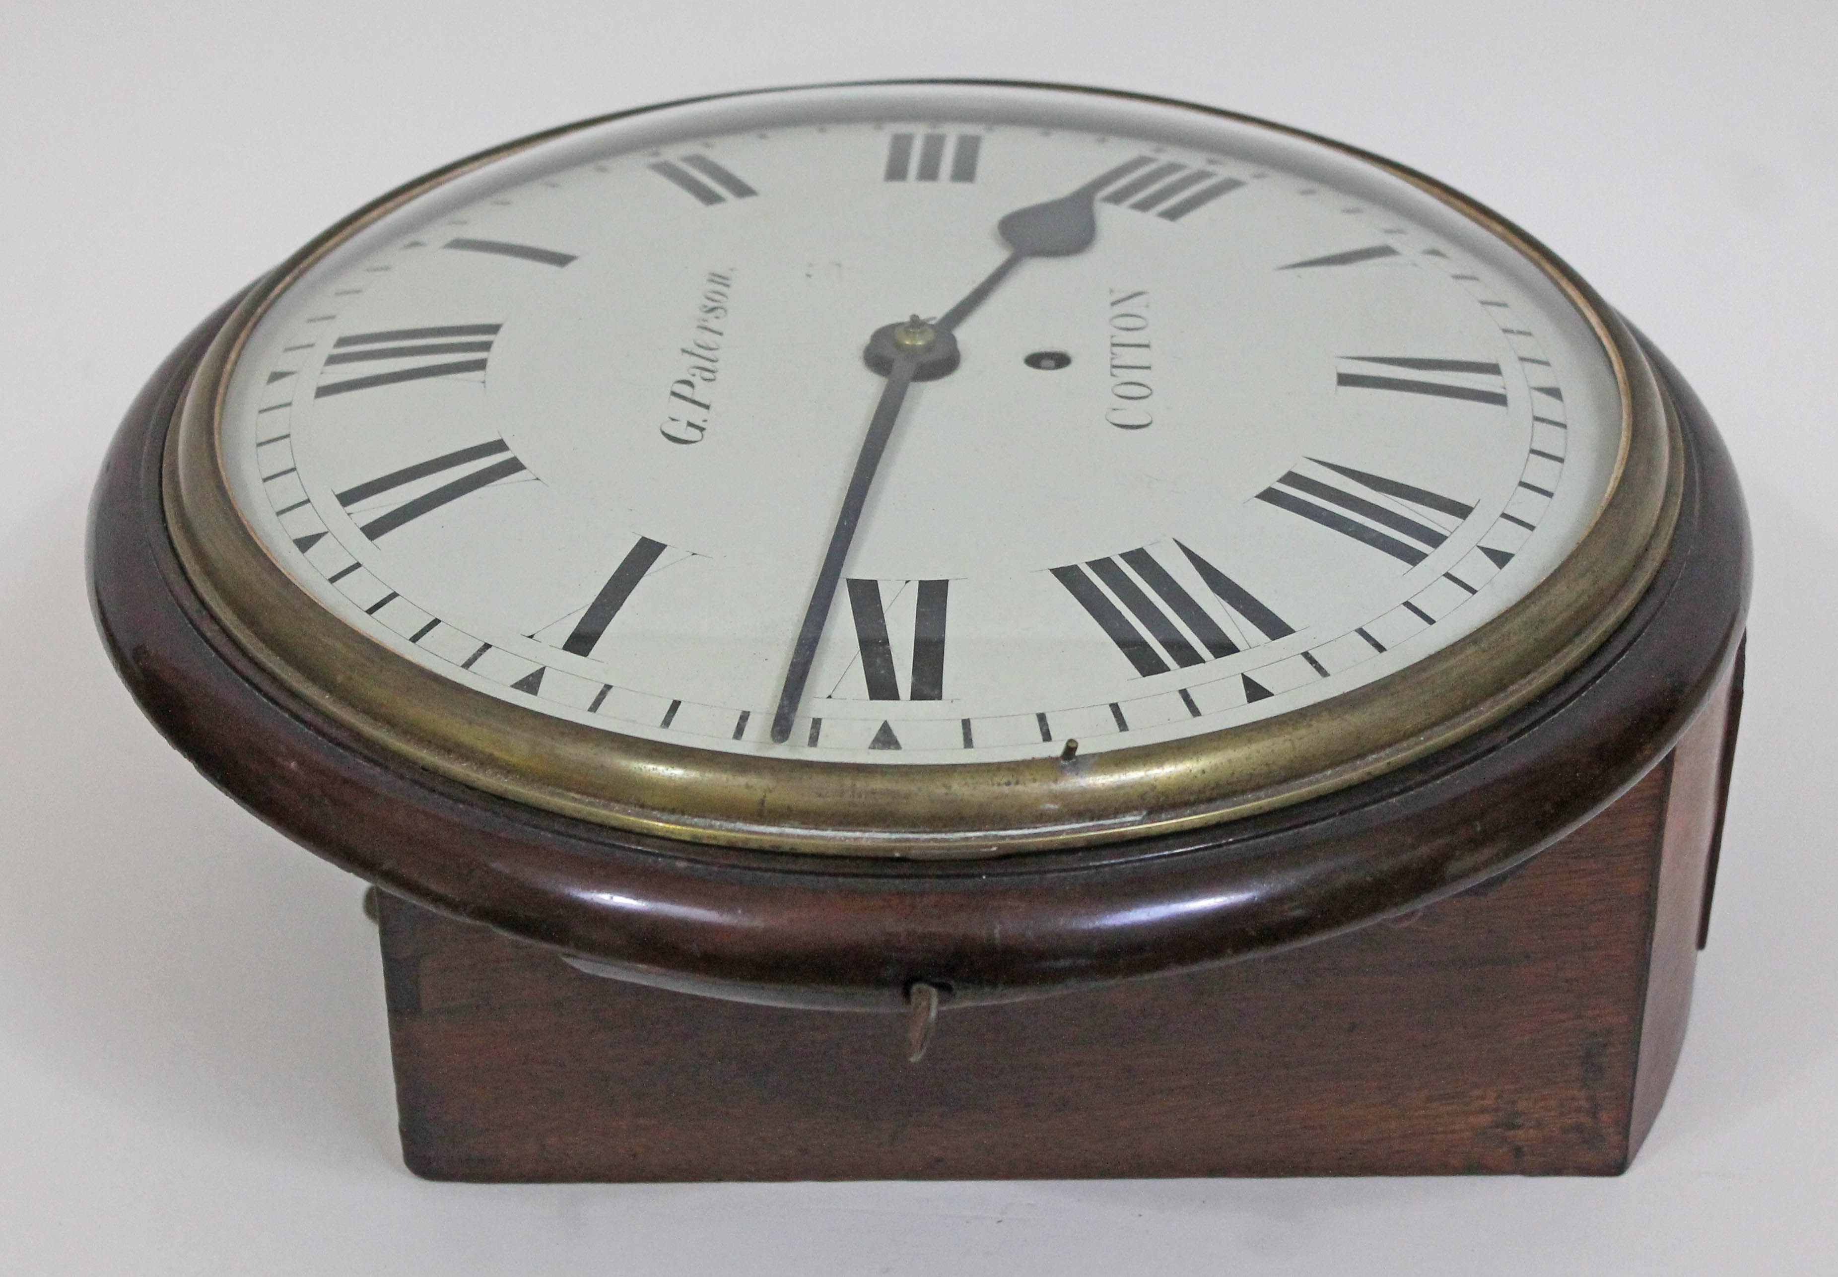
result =
M1663 548L1617 320L1193 107L719 97L456 165L244 303L171 454L259 660L570 814L978 854L1228 818L1524 704Z

